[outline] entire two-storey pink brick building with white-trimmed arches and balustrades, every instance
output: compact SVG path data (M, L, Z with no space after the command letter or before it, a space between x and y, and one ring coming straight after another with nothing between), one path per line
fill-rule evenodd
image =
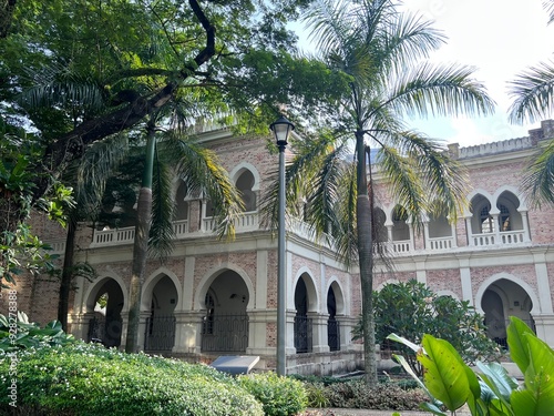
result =
M520 189L523 168L551 138L554 122L545 121L527 138L450 145L452 156L468 169L471 205L454 224L427 219L422 233L381 183L377 235L394 268L377 266L376 288L417 278L439 294L470 301L499 343L505 342L506 319L515 315L554 345L554 209L532 206ZM259 201L278 158L259 136L215 130L202 140L220 155L246 211L236 223L236 239L218 241L209 201L191 195L175 179L175 250L164 263L147 263L140 344L145 352L189 361L255 355L261 358L259 368L275 368L277 239L260 223ZM62 233L44 229L43 239L62 253ZM124 346L133 239L133 227L82 224L75 260L92 264L98 277L79 280L72 294L70 325L76 337ZM339 374L361 367L361 348L350 334L361 311L357 271L346 270L332 247L311 241L294 219L287 221L285 263L287 373ZM21 282L18 292L19 308L32 319L55 317L55 283Z

